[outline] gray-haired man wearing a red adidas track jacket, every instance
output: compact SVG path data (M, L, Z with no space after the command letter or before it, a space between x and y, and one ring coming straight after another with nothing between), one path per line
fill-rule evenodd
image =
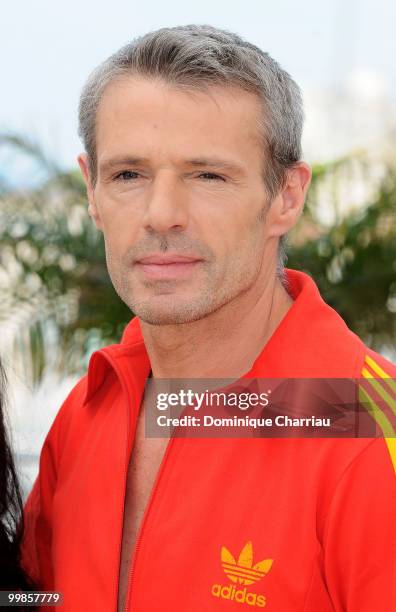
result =
M395 367L283 269L302 117L275 61L209 26L137 39L85 85L89 213L137 316L58 413L26 506L25 564L64 610L394 609L385 413L386 439L144 435L150 372L364 376L374 413L394 407Z

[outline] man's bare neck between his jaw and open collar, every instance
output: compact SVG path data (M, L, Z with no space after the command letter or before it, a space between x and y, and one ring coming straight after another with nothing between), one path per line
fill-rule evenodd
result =
M275 274L192 323L141 329L154 378L240 378L293 303Z

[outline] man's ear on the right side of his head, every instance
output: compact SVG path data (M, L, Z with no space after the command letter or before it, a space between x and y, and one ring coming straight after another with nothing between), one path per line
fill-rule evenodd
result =
M304 208L311 176L311 168L305 162L287 170L285 185L268 211L270 236L282 236L295 226Z

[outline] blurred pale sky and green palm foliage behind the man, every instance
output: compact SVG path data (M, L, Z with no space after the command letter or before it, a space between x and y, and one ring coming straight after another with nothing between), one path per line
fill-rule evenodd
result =
M287 266L396 359L396 4L390 0L20 0L2 8L0 354L24 492L63 399L131 314L107 276L76 157L88 73L131 38L209 23L268 51L303 90L314 174Z

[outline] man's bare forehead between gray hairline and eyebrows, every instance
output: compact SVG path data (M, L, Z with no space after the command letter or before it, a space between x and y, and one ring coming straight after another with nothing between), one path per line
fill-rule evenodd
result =
M237 87L186 90L159 79L110 83L96 117L97 157L112 154L210 154L257 161L261 148L258 97Z

